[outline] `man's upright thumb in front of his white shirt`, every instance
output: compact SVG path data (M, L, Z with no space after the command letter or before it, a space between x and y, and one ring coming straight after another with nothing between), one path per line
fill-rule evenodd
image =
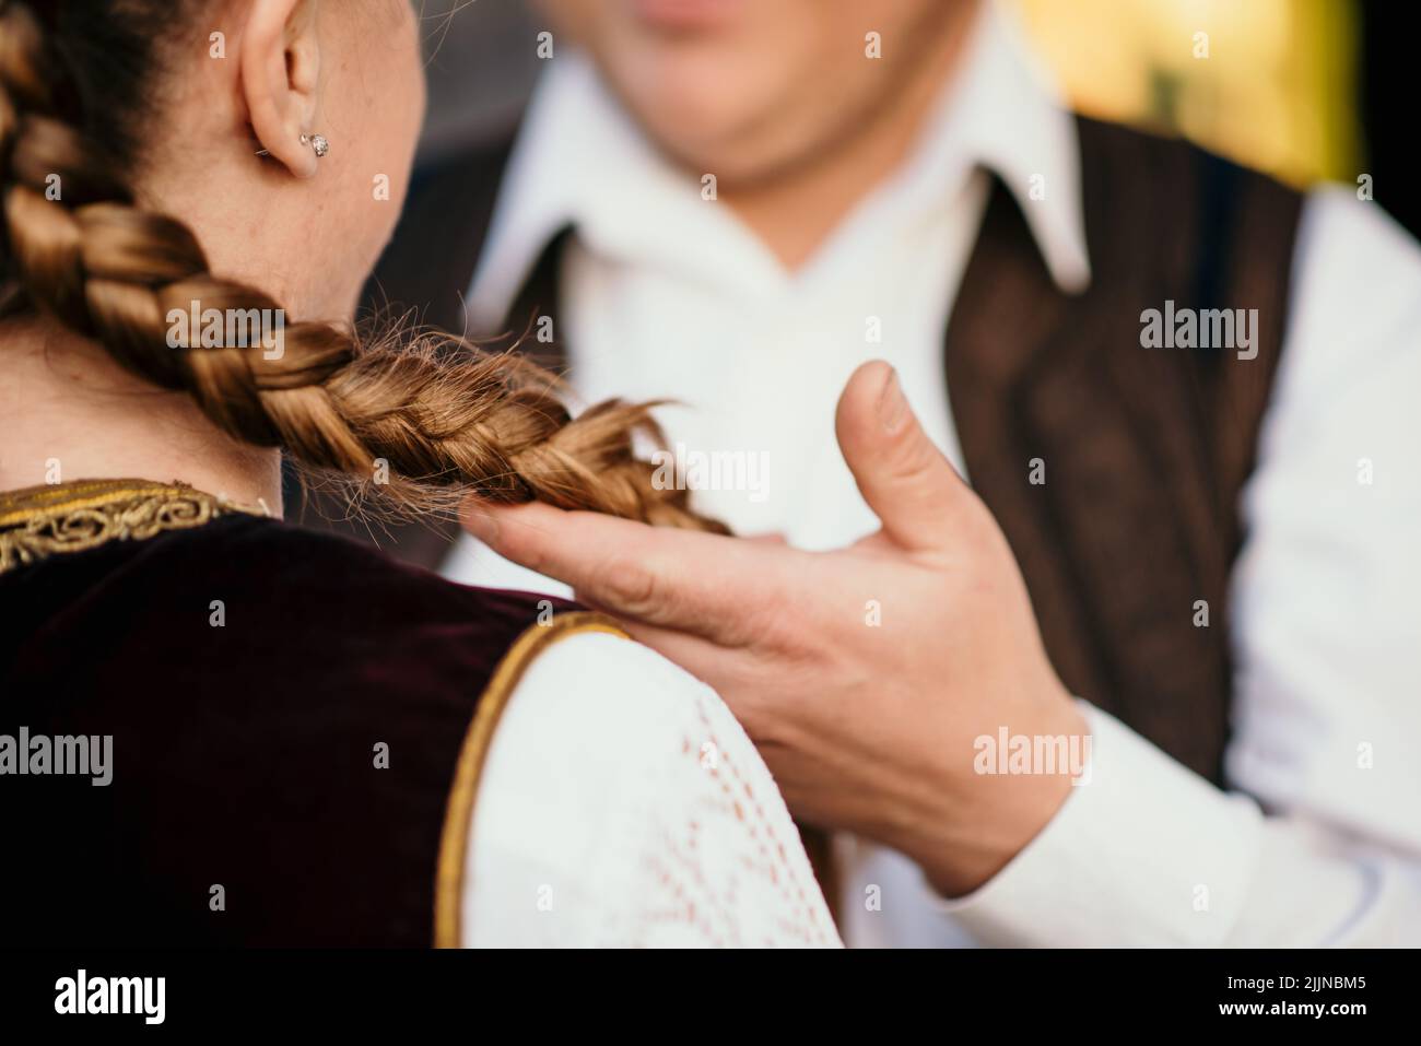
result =
M838 446L858 490L902 549L931 551L952 541L952 524L972 493L932 445L898 387L874 360L844 387L834 418Z

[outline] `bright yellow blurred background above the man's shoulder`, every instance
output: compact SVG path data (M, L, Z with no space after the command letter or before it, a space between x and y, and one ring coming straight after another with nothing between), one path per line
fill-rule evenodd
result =
M1360 171L1356 0L1010 4L1081 112L1182 134L1295 185Z

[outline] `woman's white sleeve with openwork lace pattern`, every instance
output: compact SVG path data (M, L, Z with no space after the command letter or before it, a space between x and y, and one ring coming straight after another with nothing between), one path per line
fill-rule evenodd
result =
M504 709L465 884L472 947L838 947L784 802L713 691L560 640Z

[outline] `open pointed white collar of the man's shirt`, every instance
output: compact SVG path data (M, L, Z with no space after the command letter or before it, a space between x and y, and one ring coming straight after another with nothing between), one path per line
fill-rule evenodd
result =
M1083 290L1090 262L1076 128L1012 16L993 1L914 153L845 222L867 207L901 215L951 203L976 168L1013 192L1057 286ZM593 252L669 271L693 267L701 252L688 252L688 242L753 239L706 206L701 176L659 155L578 53L553 61L529 105L469 293L475 330L503 318L539 254L568 225ZM742 279L783 276L763 246L736 246L759 259Z

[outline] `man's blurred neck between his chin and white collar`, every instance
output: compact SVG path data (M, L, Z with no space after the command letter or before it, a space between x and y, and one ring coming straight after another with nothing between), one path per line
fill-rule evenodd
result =
M877 119L830 142L783 173L722 189L740 216L786 269L803 267L840 222L912 153L945 85L961 65L979 4L951 4L941 43L924 54Z

